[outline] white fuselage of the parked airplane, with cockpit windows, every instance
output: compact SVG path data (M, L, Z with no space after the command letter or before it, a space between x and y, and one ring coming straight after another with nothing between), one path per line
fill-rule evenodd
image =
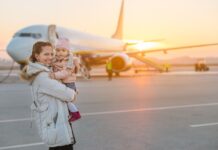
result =
M31 55L32 46L37 41L49 41L48 25L33 25L19 30L14 34L7 46L8 54L18 63L24 63ZM105 38L100 36L70 30L63 27L56 27L55 40L67 38L73 51L96 51L96 50L117 50L122 51L125 43L121 40Z

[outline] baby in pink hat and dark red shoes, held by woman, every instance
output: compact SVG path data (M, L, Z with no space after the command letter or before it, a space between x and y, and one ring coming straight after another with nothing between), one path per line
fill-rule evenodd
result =
M75 82L76 73L79 70L79 59L70 53L70 44L67 39L60 39L57 42L55 51L56 54L54 62L52 63L50 77L60 80L67 87L78 93ZM68 102L67 105L70 112L69 121L73 122L80 119L81 115L75 104Z

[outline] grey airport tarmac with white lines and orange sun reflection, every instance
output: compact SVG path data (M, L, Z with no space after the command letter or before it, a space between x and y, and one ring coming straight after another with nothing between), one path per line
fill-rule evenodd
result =
M75 150L218 149L215 70L128 72L112 81L96 73L77 86ZM31 102L29 85L16 73L0 84L0 150L48 149L30 127Z

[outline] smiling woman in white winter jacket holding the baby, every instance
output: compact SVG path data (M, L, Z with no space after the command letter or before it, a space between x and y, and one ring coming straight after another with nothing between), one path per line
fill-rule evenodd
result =
M49 42L33 45L28 65L21 77L30 81L36 126L49 150L73 150L75 138L68 121L67 102L73 102L75 91L49 77L53 48Z

